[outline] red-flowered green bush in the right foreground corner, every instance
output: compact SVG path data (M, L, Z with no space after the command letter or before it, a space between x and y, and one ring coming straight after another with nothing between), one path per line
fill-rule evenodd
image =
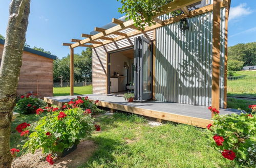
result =
M249 106L250 114L214 116L214 124L207 126L211 145L229 160L256 164L256 105ZM211 108L209 108L211 109ZM212 111L212 109L211 109Z

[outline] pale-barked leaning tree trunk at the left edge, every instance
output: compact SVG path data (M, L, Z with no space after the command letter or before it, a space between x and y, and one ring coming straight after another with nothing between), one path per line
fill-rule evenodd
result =
M0 167L11 167L10 133L12 110L30 12L30 0L12 0L0 67Z

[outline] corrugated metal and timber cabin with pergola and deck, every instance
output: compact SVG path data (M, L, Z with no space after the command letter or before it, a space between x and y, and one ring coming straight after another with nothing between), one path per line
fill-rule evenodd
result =
M74 49L92 47L93 94L98 105L199 127L212 123L212 106L227 107L227 27L230 0L177 0L161 7L142 31L134 20L113 18L70 48L71 96L47 97L61 106L74 98ZM179 12L177 12L179 11ZM181 12L180 12L181 11ZM170 12L176 12L175 16ZM126 102L124 93L135 94Z

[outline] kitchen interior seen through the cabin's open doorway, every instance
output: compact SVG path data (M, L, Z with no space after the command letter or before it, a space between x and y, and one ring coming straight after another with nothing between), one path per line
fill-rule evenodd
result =
M134 91L134 49L110 54L110 90L111 95L120 95Z

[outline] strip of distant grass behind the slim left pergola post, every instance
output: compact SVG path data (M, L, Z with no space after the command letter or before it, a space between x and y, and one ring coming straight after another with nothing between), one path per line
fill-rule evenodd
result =
M74 87L74 95L92 94L92 85L84 87ZM53 88L53 96L66 96L70 95L70 87Z

